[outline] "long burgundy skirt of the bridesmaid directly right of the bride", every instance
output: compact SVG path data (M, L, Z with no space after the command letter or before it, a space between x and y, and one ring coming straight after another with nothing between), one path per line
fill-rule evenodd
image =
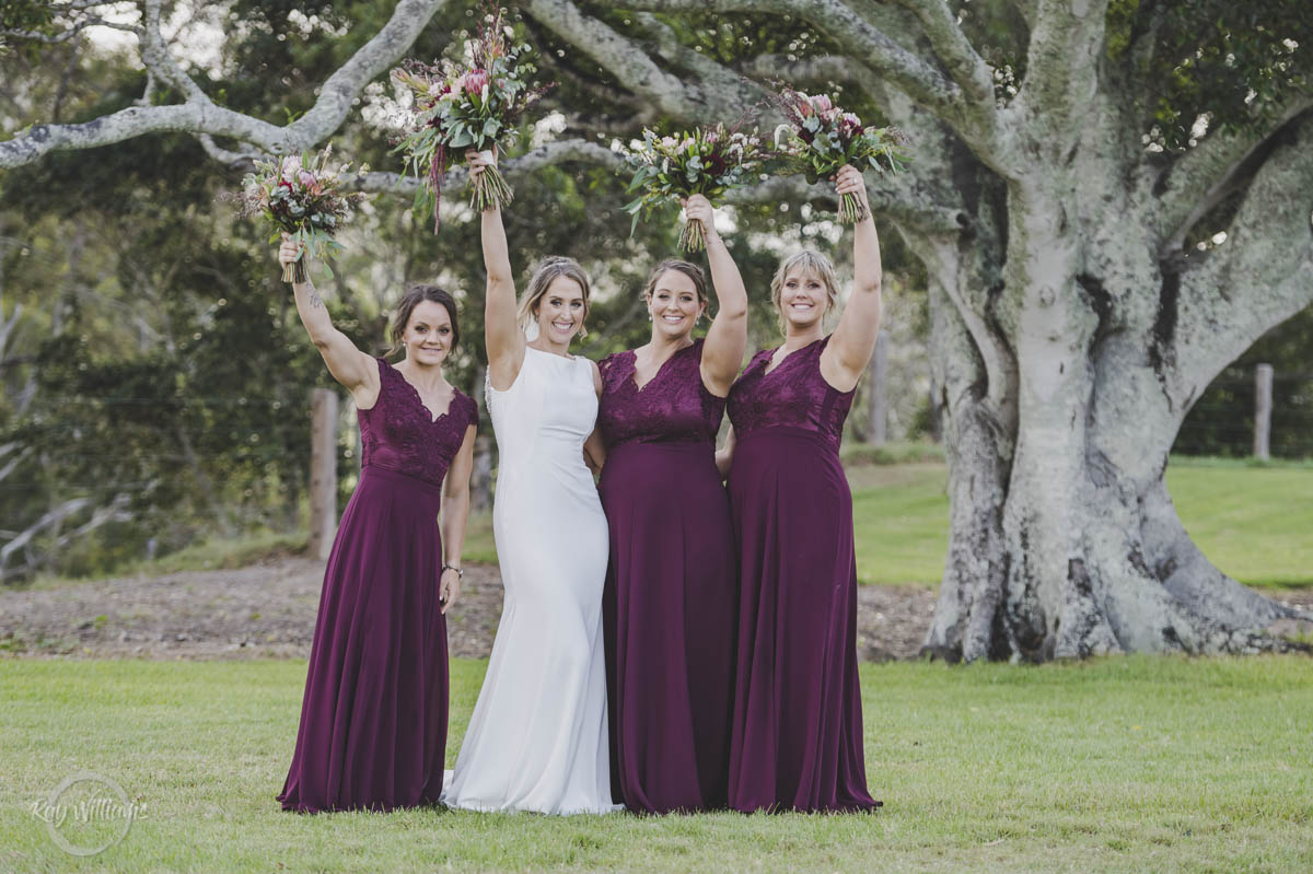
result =
M714 446L621 444L600 487L612 791L634 811L723 807L738 598Z

